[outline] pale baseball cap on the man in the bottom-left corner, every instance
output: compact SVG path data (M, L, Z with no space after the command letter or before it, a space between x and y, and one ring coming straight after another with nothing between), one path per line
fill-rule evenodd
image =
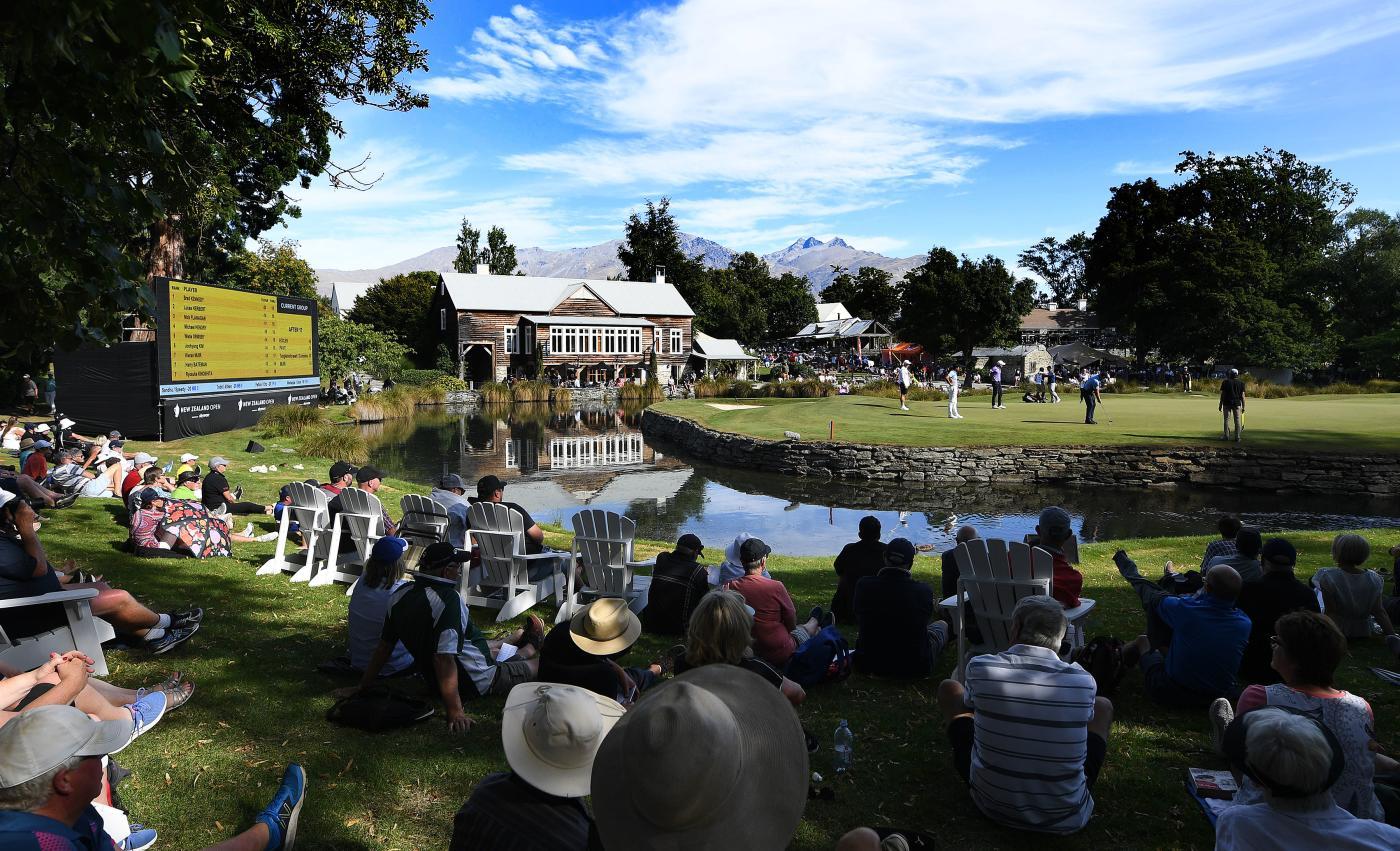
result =
M76 756L106 756L132 740L130 718L94 721L70 705L25 710L0 726L0 787L17 787Z

